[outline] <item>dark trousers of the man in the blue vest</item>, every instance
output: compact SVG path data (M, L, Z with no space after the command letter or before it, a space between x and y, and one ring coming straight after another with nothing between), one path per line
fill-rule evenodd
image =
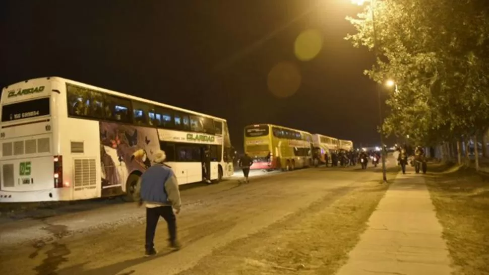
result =
M154 235L159 218L165 219L168 224L168 234L170 243L176 240L176 217L170 206L146 208L146 249L154 247Z

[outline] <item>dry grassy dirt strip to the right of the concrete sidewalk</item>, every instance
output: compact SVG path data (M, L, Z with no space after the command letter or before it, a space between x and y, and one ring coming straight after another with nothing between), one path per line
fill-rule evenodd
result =
M489 273L489 176L448 169L426 177L456 274Z

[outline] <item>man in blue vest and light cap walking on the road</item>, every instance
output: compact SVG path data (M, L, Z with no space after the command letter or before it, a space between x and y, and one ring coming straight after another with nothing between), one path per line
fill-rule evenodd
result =
M164 151L154 153L154 164L141 176L141 199L139 205L146 203L146 256L156 255L154 235L160 216L168 225L169 244L173 249L179 249L176 240L176 217L180 213L181 200L178 182L171 168L163 162L166 159ZM175 210L175 214L173 213Z

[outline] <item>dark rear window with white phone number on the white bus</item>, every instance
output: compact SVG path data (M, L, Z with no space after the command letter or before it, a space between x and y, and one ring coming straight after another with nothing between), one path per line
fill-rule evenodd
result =
M2 106L2 122L49 114L48 97Z

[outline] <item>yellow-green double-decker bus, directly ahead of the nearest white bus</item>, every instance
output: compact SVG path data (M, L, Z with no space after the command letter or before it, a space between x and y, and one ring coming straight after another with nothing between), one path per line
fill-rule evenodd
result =
M313 165L309 132L272 124L244 127L244 152L254 163L250 169L291 171Z

